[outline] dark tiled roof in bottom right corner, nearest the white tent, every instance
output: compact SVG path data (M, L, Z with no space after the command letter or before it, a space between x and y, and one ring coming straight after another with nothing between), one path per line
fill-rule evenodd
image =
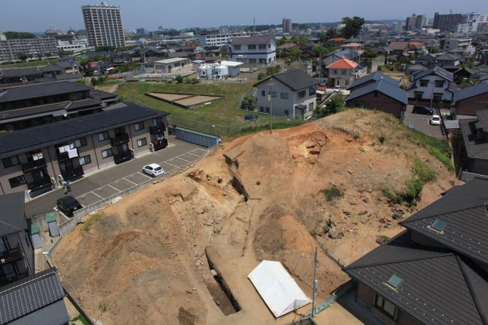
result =
M488 324L487 273L455 252L412 243L408 232L344 270L421 324ZM398 289L386 284L394 274Z

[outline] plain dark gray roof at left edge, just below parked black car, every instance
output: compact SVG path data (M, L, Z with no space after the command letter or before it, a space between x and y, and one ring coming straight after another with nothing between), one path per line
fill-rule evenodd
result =
M0 196L0 237L24 228L24 192Z

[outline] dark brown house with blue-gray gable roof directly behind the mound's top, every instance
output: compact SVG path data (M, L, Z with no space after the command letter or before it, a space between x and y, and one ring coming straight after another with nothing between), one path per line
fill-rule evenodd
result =
M398 87L395 80L375 75L373 78L361 78L365 81L353 84L351 94L346 99L346 106L387 112L403 123L408 105L407 92Z

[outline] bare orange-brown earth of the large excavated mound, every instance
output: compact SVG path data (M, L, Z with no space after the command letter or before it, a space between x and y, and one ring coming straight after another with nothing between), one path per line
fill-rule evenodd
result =
M437 180L425 186L417 206L394 206L381 188L402 188L415 156L437 171ZM454 183L392 119L348 111L224 144L185 174L105 208L88 230L78 226L63 238L53 258L68 290L105 325L128 319L286 324L310 307L275 321L246 278L261 260L281 261L311 297L318 243L352 262ZM322 191L331 186L343 196L327 201ZM220 290L208 258L232 297ZM323 302L348 277L322 248L318 259L317 299ZM338 308L324 315L342 313L341 323L355 324Z

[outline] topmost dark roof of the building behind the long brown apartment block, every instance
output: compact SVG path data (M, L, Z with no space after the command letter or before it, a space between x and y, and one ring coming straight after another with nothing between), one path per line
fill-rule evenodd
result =
M81 92L91 90L92 87L81 85L76 82L59 81L46 82L32 85L12 87L9 90L0 92L0 102L12 102L15 100L26 100L44 96L60 95L69 92Z

